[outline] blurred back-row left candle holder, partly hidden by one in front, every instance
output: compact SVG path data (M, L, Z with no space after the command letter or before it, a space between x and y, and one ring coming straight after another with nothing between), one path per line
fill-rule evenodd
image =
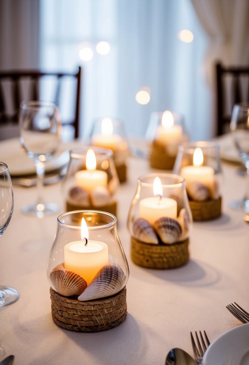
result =
M113 151L113 160L120 183L126 181L126 159L129 156L129 144L122 120L98 118L93 123L91 145L105 147Z

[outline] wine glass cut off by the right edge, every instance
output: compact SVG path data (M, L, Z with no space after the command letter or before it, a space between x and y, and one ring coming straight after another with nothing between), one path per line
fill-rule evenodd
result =
M230 203L230 207L249 212L249 103L234 104L230 130L235 146L240 154L241 162L246 167L246 192L239 201Z

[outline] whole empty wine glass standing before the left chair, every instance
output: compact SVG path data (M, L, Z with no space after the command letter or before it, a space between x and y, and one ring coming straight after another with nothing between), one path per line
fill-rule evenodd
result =
M22 207L22 212L43 218L59 210L57 204L43 201L45 163L57 151L60 144L60 115L57 106L50 101L22 101L19 115L20 143L28 157L35 162L37 173L37 202Z

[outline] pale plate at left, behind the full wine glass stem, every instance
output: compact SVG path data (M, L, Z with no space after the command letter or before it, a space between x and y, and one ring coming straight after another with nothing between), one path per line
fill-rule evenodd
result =
M60 169L69 162L68 146L61 145L58 154L46 163L46 172ZM0 161L8 165L12 176L35 174L35 164L21 148L18 138L10 138L0 143Z

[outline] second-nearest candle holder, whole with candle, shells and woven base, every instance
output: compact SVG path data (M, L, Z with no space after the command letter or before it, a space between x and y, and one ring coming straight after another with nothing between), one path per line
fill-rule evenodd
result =
M184 179L163 173L139 177L127 224L135 264L156 269L184 265L192 227Z

